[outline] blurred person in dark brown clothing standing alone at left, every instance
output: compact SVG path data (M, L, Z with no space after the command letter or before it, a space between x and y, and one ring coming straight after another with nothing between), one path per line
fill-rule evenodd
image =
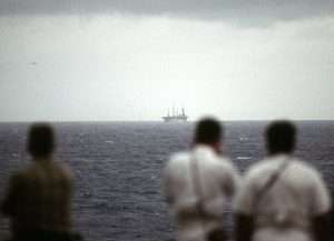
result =
M47 123L32 124L27 150L32 163L11 177L1 207L11 221L12 240L79 239L71 232L71 172L53 161L52 128Z

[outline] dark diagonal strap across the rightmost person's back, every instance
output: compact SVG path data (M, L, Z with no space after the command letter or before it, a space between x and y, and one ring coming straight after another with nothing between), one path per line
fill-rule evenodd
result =
M256 199L253 202L253 207L255 212L257 212L258 210L258 203L259 201L263 199L263 197L274 187L274 184L277 182L277 180L279 179L279 177L282 177L283 172L287 169L287 167L289 165L289 161L286 158L283 163L278 167L278 169L269 177L268 181L265 182L265 184L259 189L259 191L257 192Z

